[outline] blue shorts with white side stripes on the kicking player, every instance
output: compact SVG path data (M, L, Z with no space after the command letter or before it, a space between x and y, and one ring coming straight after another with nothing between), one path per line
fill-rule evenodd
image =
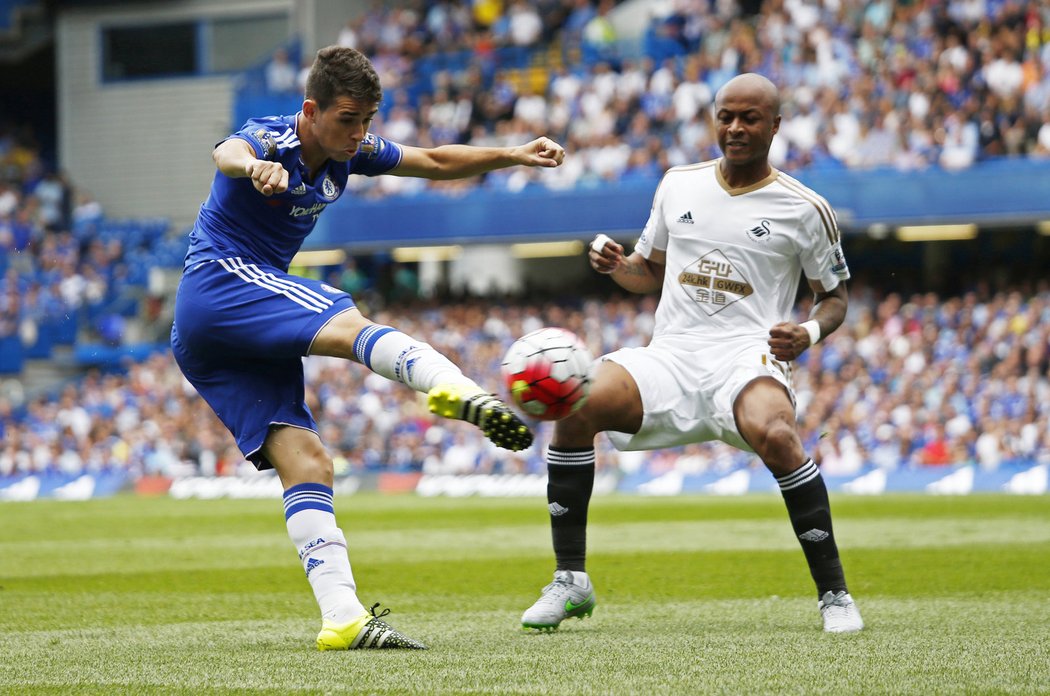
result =
M346 293L274 267L223 258L188 269L175 295L171 350L186 379L259 469L271 425L317 431L302 357L317 333L353 309Z

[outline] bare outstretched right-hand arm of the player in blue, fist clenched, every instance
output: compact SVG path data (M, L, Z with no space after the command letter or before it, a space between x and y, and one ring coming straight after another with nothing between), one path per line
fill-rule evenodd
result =
M402 146L402 150L401 162L391 174L436 180L466 178L518 165L556 167L565 160L565 148L546 136L517 147Z

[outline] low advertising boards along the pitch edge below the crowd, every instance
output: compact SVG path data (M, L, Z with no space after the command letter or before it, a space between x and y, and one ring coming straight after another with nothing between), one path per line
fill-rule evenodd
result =
M827 488L835 493L879 495L882 493L920 493L967 495L970 493L1010 493L1044 495L1050 492L1050 464L1017 463L986 471L972 465L924 469L866 469L849 476L825 476ZM537 497L546 494L547 478L542 474L469 474L427 476L422 473L365 473L336 480L335 493L350 495L360 491L390 494L415 493L422 497L469 495L486 498ZM0 477L0 501L87 500L118 492L140 495L168 495L175 499L244 499L281 497L280 482L273 473L247 477L163 476L134 478L127 471L92 473L19 473ZM715 473L685 474L668 471L659 476L600 473L594 493L612 492L638 495L744 495L774 493L776 482L764 469L737 469Z

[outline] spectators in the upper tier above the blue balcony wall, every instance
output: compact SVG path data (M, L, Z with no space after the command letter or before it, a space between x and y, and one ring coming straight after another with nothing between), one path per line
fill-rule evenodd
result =
M782 89L771 159L789 171L1050 156L1050 6L1037 0L650 3L633 51L608 19L610 0L499 5L377 4L339 38L376 64L385 136L485 145L542 132L573 155L556 170L492 172L486 187L654 178L715 157L707 107L741 71ZM531 51L533 69L497 69L507 49ZM355 184L372 195L477 185Z

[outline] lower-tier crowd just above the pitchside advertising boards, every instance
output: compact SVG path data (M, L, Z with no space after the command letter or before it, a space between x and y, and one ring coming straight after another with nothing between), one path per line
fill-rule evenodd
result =
M857 287L846 324L797 361L803 441L828 474L1011 461L1050 463L1050 284L942 298ZM494 308L499 312L494 312ZM516 338L565 326L597 355L644 344L652 297L417 302L375 313L467 365L492 389ZM804 308L801 308L804 311ZM432 417L411 389L358 365L308 358L308 399L340 474L368 471L544 471L549 437L511 454L472 426ZM15 407L0 400L0 474L120 468L132 474L251 470L230 435L167 352L126 374L92 373ZM616 452L601 437L598 467L630 473L731 471L757 460L720 443Z

